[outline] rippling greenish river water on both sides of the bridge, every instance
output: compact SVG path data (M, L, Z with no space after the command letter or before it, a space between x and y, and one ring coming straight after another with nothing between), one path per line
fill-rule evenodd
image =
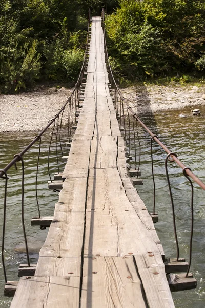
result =
M159 139L168 148L177 153L178 158L205 182L205 107L200 107L202 116L193 117L190 108L177 111L165 111L158 113L141 114L140 118L157 134ZM179 117L185 114L187 117ZM204 115L203 115L204 114ZM139 127L141 141L141 178L144 185L137 186L140 197L144 200L147 208L152 211L153 204L153 182L151 176L150 136ZM0 134L0 168L3 168L15 153L20 152L36 133L2 133ZM42 139L42 156L39 165L38 196L41 214L52 216L54 204L58 200L57 192L48 190L48 146L50 132ZM63 135L66 141L66 136ZM131 153L134 156L133 136L131 142ZM66 147L63 148L66 155ZM31 217L37 216L37 205L35 199L35 172L38 154L38 145L34 145L27 155L25 161L25 225L27 230L28 245L31 263L36 263L39 249L42 247L47 230L39 227L31 227ZM137 152L138 155L138 152ZM173 233L173 220L169 190L165 174L166 153L154 142L153 145L154 172L156 182L156 210L159 222L155 224L158 236L165 249L166 257L176 257L175 239ZM7 224L5 238L5 263L8 280L17 280L19 264L27 263L20 220L20 198L21 198L21 166L17 164L18 170L12 168L8 172L8 199L7 199ZM63 170L64 164L60 163ZM182 170L175 164L169 163L170 181L172 185L177 234L180 246L180 256L189 261L189 240L191 227L191 188L188 181L182 175ZM51 149L51 174L57 173L55 146ZM197 279L196 290L173 293L175 306L177 308L203 308L205 306L205 263L203 253L205 248L205 192L194 184L194 238L191 272ZM3 217L3 195L4 180L0 186L0 215ZM2 220L0 222L0 231ZM8 307L11 300L4 297L4 276L2 265L0 268L0 306Z

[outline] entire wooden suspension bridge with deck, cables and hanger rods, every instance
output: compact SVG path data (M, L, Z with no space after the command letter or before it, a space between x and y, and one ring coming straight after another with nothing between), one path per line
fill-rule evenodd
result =
M68 148L65 156L61 146L61 123L68 116ZM127 119L127 120L126 120ZM137 125L141 124L167 152L166 174L169 185L177 256L165 257L155 231L158 216L149 213L140 199L136 185L140 159L131 169L131 126L134 131L135 162ZM49 227L46 241L36 264L31 264L24 224L24 160L23 155L44 132L57 129L62 159L66 162L62 174L54 180L49 171L49 189L59 190L52 217L32 218L32 225ZM139 138L138 138L139 141ZM127 144L126 144L127 142ZM127 145L129 146L127 148ZM56 142L56 158L58 164ZM192 188L192 224L190 260L179 258L174 203L167 164L175 161L183 170ZM17 162L22 163L22 224L26 243L27 264L20 265L19 281L8 281L4 260L7 172ZM152 160L153 171L153 160ZM84 63L75 89L66 104L47 127L18 155L14 156L0 177L5 180L2 262L5 295L13 296L11 307L174 307L171 292L196 287L190 273L193 236L193 185L205 185L190 168L178 160L158 137L139 119L118 89L110 68L105 40L104 12L102 17L90 17ZM192 180L191 180L192 179ZM154 172L153 172L153 183ZM154 190L155 191L155 190ZM37 189L36 189L37 197ZM38 204L38 198L37 198ZM39 205L38 205L39 209Z

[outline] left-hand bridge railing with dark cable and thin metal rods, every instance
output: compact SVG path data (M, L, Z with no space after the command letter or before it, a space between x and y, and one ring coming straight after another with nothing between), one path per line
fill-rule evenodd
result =
M87 72L87 62L89 58L89 41L90 41L90 22L91 22L91 12L89 9L88 13L88 34L87 34L87 43L86 43L86 51L83 60L83 64L81 66L81 70L79 73L78 80L75 84L75 87L67 99L66 103L61 107L60 111L55 115L55 117L48 123L48 125L40 131L40 133L20 152L14 155L12 161L10 161L7 166L5 166L2 170L0 170L0 178L5 180L5 188L4 188L4 207L3 207L3 231L2 231L2 265L4 271L4 278L5 282L7 283L7 274L6 274L6 266L5 266L5 229L6 229L6 211L7 211L7 187L8 187L8 171L15 166L17 170L16 164L21 162L22 164L22 201L21 201L21 211L22 211L22 226L23 226L23 234L26 246L26 255L27 255L27 262L28 266L30 266L30 259L29 259L29 251L28 251L28 244L27 244L27 236L26 236L26 229L25 229L25 221L24 221L24 182L25 182L25 166L24 166L24 155L27 153L34 144L39 143L39 150L38 150L38 158L37 158L37 170L36 170L36 178L35 178L35 191L36 191L36 203L38 208L38 214L40 218L40 210L38 204L38 194L37 194L37 181L38 181L38 167L39 167L39 159L40 159L40 150L42 145L42 137L44 136L45 132L49 129L52 129L49 148L48 148L48 175L51 179L50 174L50 156L51 156L51 148L53 142L55 143L55 157L57 162L57 171L59 174L59 160L58 160L58 152L61 152L62 157L64 156L63 147L61 144L61 133L62 129L67 130L67 138L68 142L72 141L72 126L77 123L77 117L79 116L80 106L80 96L83 95L82 89L84 84L84 79L86 80L86 72ZM65 125L63 125L67 122ZM55 135L55 139L53 138Z

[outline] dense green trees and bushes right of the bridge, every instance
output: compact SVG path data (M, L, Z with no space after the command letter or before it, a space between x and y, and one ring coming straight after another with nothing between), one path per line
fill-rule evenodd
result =
M129 79L205 70L204 0L119 0L107 16L111 63Z

